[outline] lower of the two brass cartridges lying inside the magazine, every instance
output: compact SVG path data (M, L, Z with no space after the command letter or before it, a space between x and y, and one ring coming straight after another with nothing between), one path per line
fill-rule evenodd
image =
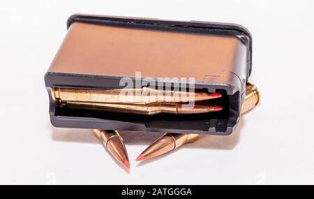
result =
M84 102L66 102L68 108L81 108L88 110L103 110L111 112L125 112L139 115L157 115L166 114L198 114L205 112L216 112L223 108L218 105L198 105L193 108L186 108L184 103L150 103L148 105L119 104L119 103L84 103Z

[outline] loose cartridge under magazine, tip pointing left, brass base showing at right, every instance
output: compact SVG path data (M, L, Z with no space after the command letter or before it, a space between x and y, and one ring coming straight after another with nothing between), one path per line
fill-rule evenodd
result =
M260 101L260 95L257 87L254 84L246 84L246 99L241 107L241 114L252 110ZM185 133L165 133L151 144L147 149L137 157L136 161L142 161L166 154L171 152L182 145L188 144L190 142L195 142L200 138L200 134L185 134Z

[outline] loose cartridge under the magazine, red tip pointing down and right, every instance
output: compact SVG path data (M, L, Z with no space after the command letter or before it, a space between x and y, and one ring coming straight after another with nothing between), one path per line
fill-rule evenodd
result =
M130 168L130 162L128 161L128 153L124 145L124 140L119 135L118 131L108 130L94 130L96 137L103 142L104 147L114 156L119 163L126 168Z

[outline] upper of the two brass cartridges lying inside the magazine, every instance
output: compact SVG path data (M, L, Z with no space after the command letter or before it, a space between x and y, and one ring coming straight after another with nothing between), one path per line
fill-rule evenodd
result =
M147 105L149 103L186 103L220 98L221 94L208 92L186 92L142 89L70 89L52 87L54 101L84 103L128 103Z

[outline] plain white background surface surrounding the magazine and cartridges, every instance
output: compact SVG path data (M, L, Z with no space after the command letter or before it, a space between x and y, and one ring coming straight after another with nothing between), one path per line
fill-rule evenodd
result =
M314 184L313 1L1 1L0 184ZM50 124L44 74L73 13L244 25L262 103L230 136L155 161L160 134L122 133L126 172L87 130Z

